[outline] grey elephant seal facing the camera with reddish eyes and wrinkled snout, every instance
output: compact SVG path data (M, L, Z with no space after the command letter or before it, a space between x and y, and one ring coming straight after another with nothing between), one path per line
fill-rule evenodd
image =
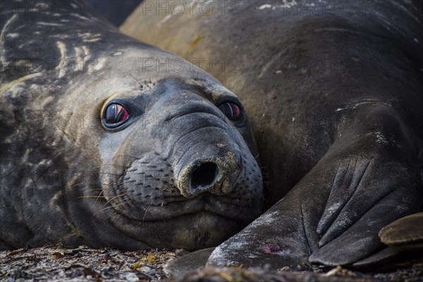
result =
M79 1L1 8L0 249L195 250L259 216L232 92Z

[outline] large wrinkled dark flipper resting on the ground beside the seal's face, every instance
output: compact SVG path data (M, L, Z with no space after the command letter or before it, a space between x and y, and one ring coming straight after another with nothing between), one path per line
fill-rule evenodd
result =
M372 104L354 114L352 127L300 183L216 247L209 264L277 269L386 259L386 252L383 259L372 257L384 247L379 230L422 205L417 154L401 115L391 107Z

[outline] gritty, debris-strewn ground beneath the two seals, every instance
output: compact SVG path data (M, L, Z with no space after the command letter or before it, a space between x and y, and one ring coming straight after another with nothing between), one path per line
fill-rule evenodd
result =
M423 259L392 264L389 271L359 272L341 267L298 271L282 269L207 268L178 278L166 278L166 262L184 250L124 252L81 246L39 247L0 251L0 281L417 281L423 282Z

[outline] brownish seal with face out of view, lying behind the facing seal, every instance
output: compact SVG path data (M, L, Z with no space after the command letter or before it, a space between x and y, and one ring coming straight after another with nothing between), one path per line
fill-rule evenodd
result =
M423 201L422 2L212 3L167 15L141 4L121 26L219 66L208 71L249 113L269 201L282 198L208 263L371 266L395 255L379 231Z

